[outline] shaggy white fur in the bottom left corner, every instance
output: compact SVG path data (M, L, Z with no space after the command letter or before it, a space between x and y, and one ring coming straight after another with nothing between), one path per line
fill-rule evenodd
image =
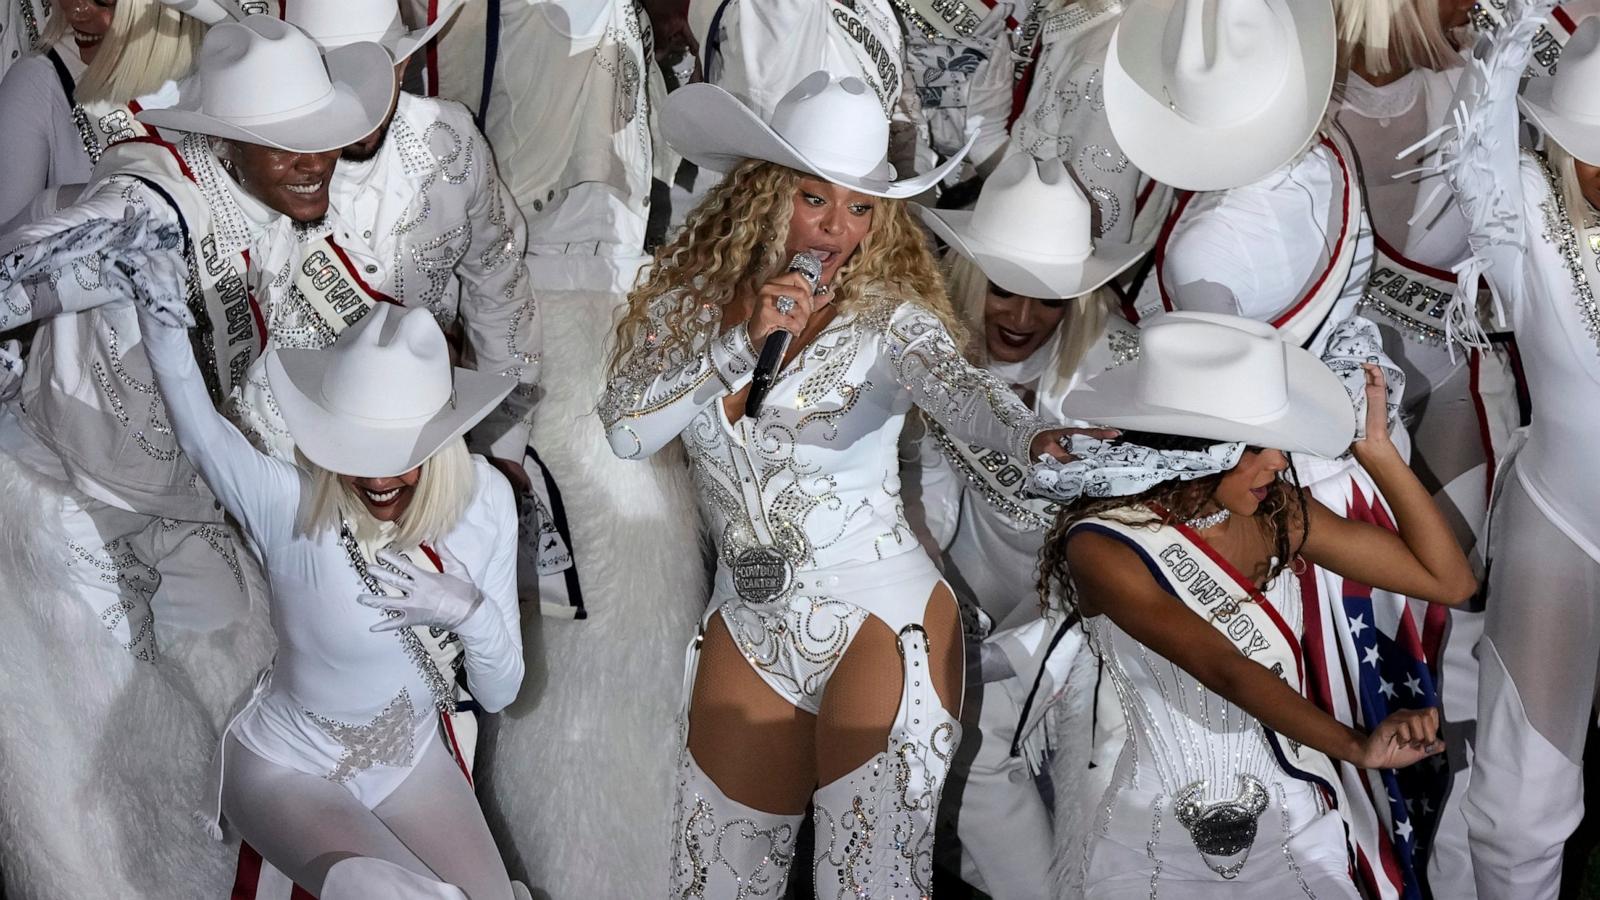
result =
M0 870L8 900L222 898L238 844L192 814L229 708L270 658L250 612L208 634L157 625L141 663L66 580L62 485L0 455Z

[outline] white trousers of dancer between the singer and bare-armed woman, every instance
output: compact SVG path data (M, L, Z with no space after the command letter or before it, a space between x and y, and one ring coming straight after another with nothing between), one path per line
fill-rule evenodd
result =
M1011 756L1022 714L1018 695L1026 697L1029 687L1013 676L968 689L966 703L979 706L973 733L978 753L965 772L952 772L952 781L963 781L955 818L962 878L994 900L1050 895L1050 814L1027 762Z

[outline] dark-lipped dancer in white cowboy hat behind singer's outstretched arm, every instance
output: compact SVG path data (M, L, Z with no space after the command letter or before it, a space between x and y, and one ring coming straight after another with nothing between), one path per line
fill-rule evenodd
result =
M1067 391L1138 354L1138 331L1099 288L1141 253L1091 242L1094 208L1059 160L1014 154L973 211L917 211L950 243L947 283L978 335L973 352L1043 420L1061 421ZM968 746L952 781L962 785L962 878L998 900L1043 898L1051 820L1030 767L1046 741L1019 735L1018 721L1024 706L1030 722L1043 719L1082 645L1077 631L1058 637L1061 617L1040 615L1037 560L1054 504L1024 493L1027 460L926 428L928 532L957 597L982 610L968 634L979 677L968 681Z

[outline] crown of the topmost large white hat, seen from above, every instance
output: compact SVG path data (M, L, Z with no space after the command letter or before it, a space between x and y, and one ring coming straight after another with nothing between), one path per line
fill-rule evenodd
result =
M1294 46L1267 0L1179 0L1162 42L1162 99L1202 127L1248 120L1288 88Z

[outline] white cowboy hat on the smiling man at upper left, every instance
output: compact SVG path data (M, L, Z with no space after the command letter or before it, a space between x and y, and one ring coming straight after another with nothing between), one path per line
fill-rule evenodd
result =
M346 0L339 0L341 3ZM211 26L178 102L139 122L280 151L320 154L360 141L389 115L395 70L376 43L326 54L272 16Z

